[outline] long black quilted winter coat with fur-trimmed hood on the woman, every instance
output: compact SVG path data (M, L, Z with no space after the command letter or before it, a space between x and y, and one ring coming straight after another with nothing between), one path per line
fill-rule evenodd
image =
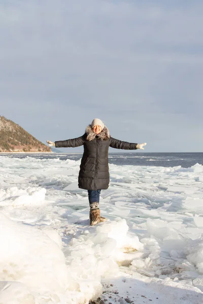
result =
M81 160L78 186L82 189L97 190L109 187L109 147L134 150L137 143L121 141L110 136L105 128L96 135L91 126L86 128L83 136L74 139L55 141L56 148L84 146Z

